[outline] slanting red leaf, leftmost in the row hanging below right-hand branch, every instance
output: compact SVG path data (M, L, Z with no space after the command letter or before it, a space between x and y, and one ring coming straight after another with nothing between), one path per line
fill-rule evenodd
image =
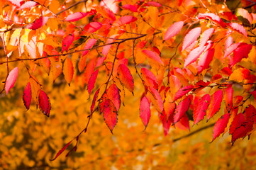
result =
M183 101L179 102L174 113L174 124L179 122L179 120L186 114L192 99L193 96L189 95Z

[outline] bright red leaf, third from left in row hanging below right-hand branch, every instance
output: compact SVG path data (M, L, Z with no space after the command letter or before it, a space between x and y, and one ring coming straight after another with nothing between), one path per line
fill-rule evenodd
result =
M223 91L216 91L213 95L211 95L211 103L208 107L207 112L207 121L213 117L221 108L221 101L223 100Z

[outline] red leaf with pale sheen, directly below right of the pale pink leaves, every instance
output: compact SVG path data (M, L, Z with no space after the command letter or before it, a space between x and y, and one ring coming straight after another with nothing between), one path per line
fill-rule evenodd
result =
M199 58L199 62L197 63L197 72L200 74L204 69L207 69L210 65L211 60L213 60L214 48L207 50L203 55Z

